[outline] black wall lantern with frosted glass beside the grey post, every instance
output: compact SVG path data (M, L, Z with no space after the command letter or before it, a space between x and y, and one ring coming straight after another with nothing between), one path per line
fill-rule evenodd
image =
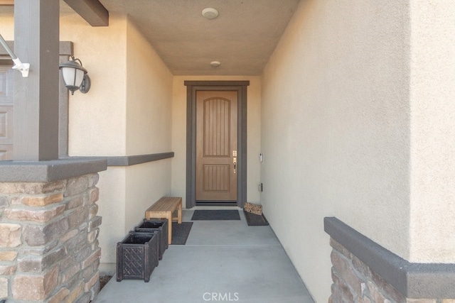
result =
M79 61L80 64L76 61ZM82 94L86 94L90 90L90 77L79 59L71 56L71 60L60 64L59 68L62 70L65 87L71 91L71 94L74 94L76 89L79 89Z

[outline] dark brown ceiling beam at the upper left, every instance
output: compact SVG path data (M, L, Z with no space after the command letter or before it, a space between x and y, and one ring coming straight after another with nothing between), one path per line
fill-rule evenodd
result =
M2 0L0 0L2 1ZM63 0L91 26L109 26L109 11L98 0Z

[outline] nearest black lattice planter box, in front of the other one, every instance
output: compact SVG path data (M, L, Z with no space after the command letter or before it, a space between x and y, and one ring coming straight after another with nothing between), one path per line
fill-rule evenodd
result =
M151 272L158 266L158 231L130 231L117 243L117 282L124 279L150 281Z

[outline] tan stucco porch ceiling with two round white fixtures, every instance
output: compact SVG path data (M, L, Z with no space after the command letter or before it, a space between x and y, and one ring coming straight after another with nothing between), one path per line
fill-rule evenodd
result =
M261 75L299 1L100 0L128 14L174 75ZM203 18L206 7L218 18Z

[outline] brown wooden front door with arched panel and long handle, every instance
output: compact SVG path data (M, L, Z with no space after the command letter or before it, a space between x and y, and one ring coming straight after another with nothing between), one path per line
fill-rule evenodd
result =
M237 91L196 92L196 202L237 201Z

